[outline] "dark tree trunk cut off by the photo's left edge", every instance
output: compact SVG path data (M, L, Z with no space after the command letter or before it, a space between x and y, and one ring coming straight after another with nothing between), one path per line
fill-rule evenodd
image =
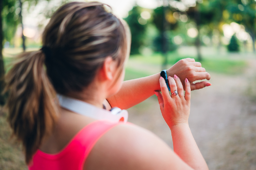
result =
M0 1L0 105L4 105L5 97L2 95L4 88L4 63L3 63L3 25L2 25L3 1Z

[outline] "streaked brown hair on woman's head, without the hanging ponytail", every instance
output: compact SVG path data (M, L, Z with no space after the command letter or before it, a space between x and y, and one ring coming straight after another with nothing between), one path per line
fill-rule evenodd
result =
M47 24L43 46L47 74L58 93L81 91L94 79L106 57L122 68L129 54L127 25L99 2L71 2L60 7Z

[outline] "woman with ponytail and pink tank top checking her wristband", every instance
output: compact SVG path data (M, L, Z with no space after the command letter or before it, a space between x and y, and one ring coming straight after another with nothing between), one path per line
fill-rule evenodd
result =
M181 82L177 75L168 77L171 91L178 90L176 96L170 96L159 73L122 85L129 29L102 3L61 6L47 24L42 41L41 50L20 54L6 75L8 121L23 143L29 169L208 169L188 126L188 79ZM185 69L181 71L177 65ZM186 76L182 73L186 69L191 81L210 79L192 59L180 61L167 74L176 71ZM86 114L97 115L103 112L105 99L112 107L128 108L153 95L154 90L162 91L155 94L171 129L175 153L143 128L83 116L63 103L60 107L56 98L56 94L69 98L77 104L74 110L82 108ZM97 112L89 112L90 108Z

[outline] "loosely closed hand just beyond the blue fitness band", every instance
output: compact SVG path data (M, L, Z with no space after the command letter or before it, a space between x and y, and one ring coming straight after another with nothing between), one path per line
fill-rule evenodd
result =
M207 81L202 81L198 83L193 83L196 80L211 79L211 75L208 72L205 72L205 69L202 67L201 63L195 62L194 58L184 58L174 64L171 68L166 70L167 77L173 77L176 74L185 89L185 79L189 80L191 90L197 90L204 88L206 86L211 86L212 84Z

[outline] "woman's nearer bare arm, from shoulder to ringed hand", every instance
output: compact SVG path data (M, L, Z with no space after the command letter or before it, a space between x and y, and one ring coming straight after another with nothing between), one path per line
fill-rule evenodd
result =
M152 132L129 123L119 124L98 140L84 169L208 170L187 123L189 82L185 82L184 96L180 79L169 77L168 80L171 91L175 90L177 83L179 96L170 96L163 79L160 79L162 94L156 94L162 115L171 129L174 152Z

